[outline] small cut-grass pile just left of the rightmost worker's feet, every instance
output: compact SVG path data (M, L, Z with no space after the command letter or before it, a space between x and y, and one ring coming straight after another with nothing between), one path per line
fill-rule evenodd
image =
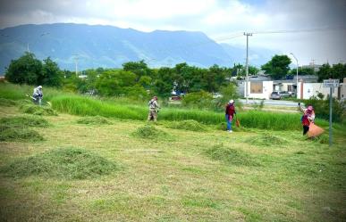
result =
M248 144L256 145L256 146L283 146L283 144L288 144L288 141L279 137L274 136L269 133L264 133L259 136L254 136L246 140Z

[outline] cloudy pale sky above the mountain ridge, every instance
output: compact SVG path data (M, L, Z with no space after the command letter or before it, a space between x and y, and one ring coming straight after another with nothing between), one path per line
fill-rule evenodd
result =
M0 0L0 4L0 29L74 22L141 31L194 30L216 42L240 46L246 45L242 33L253 32L250 47L294 53L300 64L346 62L346 0Z

